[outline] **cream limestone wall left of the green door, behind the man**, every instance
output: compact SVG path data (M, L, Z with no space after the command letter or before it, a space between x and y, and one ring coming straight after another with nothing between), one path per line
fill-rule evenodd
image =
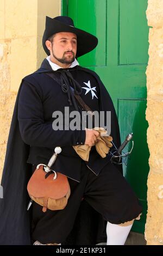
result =
M0 180L18 88L46 57L46 15L60 13L61 0L0 0Z

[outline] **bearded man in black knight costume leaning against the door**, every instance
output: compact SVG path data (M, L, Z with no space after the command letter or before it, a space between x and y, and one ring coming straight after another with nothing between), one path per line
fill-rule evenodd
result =
M74 27L70 17L46 17L42 44L48 57L39 70L23 78L11 122L2 177L4 198L0 201L3 245L91 244L101 242L105 230L108 245L123 245L133 220L142 211L121 168L110 162L108 154L98 154L97 130L53 129L55 111L65 114L65 107L70 112L84 110L74 97L79 95L92 111L111 112L111 136L120 146L117 117L108 92L98 75L77 61L97 43L96 36ZM79 145L90 147L87 161L77 154ZM34 202L27 211L27 182L32 170L39 163L47 164L57 146L62 151L53 168L68 177L71 187L66 208L42 212ZM84 224L81 227L79 220L87 228ZM74 239L82 228L82 237ZM92 239L93 228L100 238Z

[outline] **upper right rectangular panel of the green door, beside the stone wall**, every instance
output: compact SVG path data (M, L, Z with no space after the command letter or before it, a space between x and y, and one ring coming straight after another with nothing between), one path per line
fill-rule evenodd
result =
M147 1L120 1L120 65L147 64Z

